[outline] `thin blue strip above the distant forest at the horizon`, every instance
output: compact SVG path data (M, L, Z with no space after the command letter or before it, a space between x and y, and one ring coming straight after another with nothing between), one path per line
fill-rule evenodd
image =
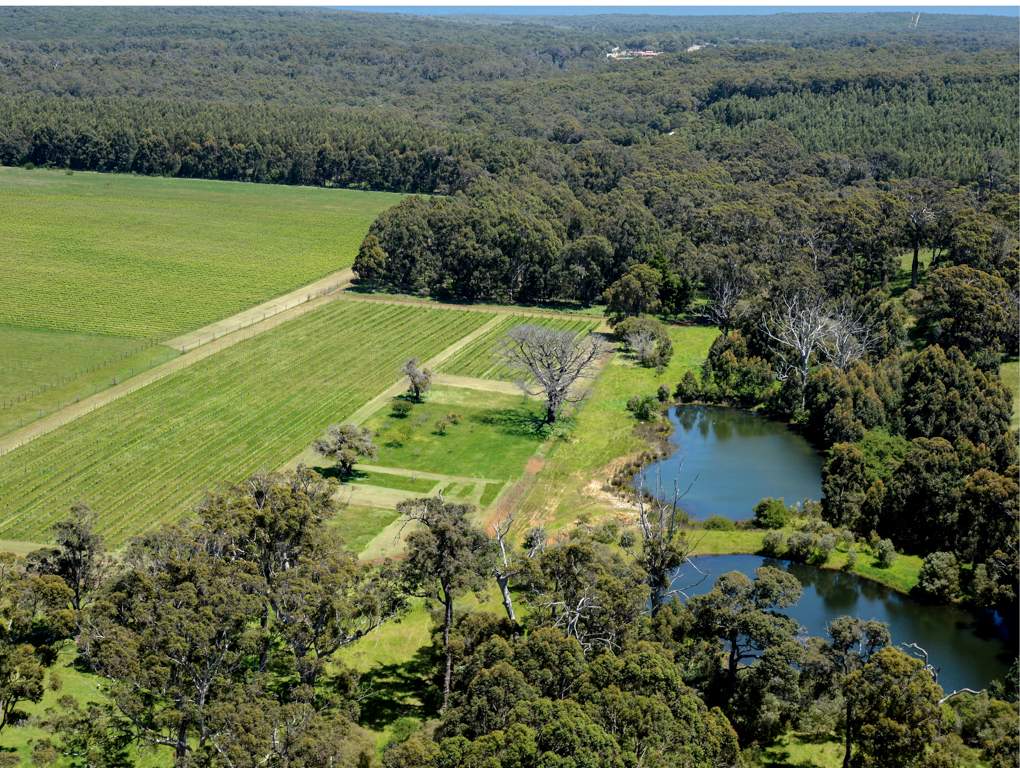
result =
M921 13L970 16L1020 17L1018 5L329 5L333 10L356 10L375 13L409 13L422 16L494 15L494 16L768 16L779 13Z

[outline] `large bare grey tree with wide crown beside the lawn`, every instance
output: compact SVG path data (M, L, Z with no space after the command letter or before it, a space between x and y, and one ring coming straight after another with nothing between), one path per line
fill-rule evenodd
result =
M546 423L552 424L567 404L583 400L585 393L575 385L595 376L608 351L605 340L595 334L525 324L507 331L496 355L525 394L546 398Z

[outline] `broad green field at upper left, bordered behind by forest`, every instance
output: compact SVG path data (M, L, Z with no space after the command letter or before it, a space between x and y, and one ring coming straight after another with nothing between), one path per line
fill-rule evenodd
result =
M0 325L165 341L349 267L400 195L0 170Z

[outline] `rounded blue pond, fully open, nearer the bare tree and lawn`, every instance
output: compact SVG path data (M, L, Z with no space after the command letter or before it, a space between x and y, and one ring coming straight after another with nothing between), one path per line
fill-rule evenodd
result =
M667 500L674 477L681 493L694 481L678 505L692 519L743 520L769 496L786 504L821 499L822 455L785 425L749 411L701 405L671 408L669 419L678 450L635 481L653 492L661 485Z

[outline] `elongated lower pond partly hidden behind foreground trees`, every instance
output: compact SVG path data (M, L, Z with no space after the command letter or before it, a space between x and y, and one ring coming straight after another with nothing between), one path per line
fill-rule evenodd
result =
M956 606L926 606L881 584L851 573L815 568L757 555L711 555L694 559L708 577L690 595L704 595L716 578L741 571L754 578L755 570L772 565L797 577L804 595L797 605L781 611L800 622L807 634L826 637L825 627L837 616L876 619L889 625L892 645L916 643L925 649L930 662L940 667L938 683L947 692L961 687L981 689L993 679L1003 679L1016 654L1015 627L997 621L993 615L975 616ZM701 576L690 564L677 571L677 586Z

